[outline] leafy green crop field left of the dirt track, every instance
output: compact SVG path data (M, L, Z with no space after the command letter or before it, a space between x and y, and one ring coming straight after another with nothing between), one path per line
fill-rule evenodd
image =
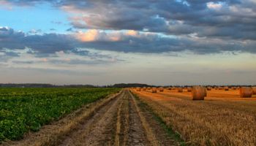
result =
M118 88L0 88L0 143L104 98Z

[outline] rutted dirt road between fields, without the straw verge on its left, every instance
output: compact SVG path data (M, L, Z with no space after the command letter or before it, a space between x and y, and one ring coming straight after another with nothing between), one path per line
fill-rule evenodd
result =
M140 111L137 102L128 90L122 91L93 117L61 137L59 145L174 145L157 121Z

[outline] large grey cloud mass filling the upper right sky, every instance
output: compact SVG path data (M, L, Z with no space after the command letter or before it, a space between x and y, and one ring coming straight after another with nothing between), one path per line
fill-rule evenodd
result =
M42 1L76 12L70 17L74 28L256 39L256 2L252 0L10 0L30 5Z

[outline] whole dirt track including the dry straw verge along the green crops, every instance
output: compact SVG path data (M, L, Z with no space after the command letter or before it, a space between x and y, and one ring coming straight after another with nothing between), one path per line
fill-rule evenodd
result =
M11 145L178 145L128 89L86 108Z

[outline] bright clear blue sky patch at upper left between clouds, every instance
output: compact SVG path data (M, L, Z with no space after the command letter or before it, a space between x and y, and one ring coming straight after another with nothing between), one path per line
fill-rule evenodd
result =
M41 30L42 33L65 33L69 25L67 13L52 7L50 4L36 6L1 6L1 26L8 26L15 30L29 32ZM53 30L54 29L54 30Z

